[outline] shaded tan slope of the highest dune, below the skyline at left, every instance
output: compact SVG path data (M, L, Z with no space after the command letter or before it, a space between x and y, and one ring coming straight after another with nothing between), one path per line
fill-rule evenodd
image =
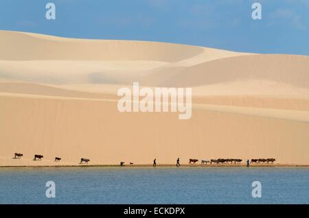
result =
M129 40L80 40L0 32L0 60L150 60L176 62L203 53L201 47ZM18 54L18 55L17 55Z

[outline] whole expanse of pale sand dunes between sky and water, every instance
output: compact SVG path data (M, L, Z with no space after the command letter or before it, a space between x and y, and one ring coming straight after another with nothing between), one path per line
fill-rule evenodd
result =
M82 157L93 165L178 157L309 165L308 72L308 56L0 31L0 166ZM192 118L118 112L117 89L133 82L192 87Z

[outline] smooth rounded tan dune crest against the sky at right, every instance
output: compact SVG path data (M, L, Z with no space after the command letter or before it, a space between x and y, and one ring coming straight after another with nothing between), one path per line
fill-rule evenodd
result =
M161 86L203 86L236 80L271 80L309 88L309 57L249 55L222 58L185 69Z

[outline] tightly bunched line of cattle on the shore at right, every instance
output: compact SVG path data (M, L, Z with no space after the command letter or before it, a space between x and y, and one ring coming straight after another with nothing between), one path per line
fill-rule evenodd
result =
M260 158L260 159L251 159L250 163L254 163L254 164L265 164L265 163L272 163L275 162L275 158ZM196 162L198 162L198 159L190 159L189 160L189 164L195 164ZM223 159L223 158L219 158L219 159L211 159L211 160L201 160L201 165L207 165L207 163L209 162L209 164L217 164L217 165L229 165L229 164L240 164L242 162L242 159Z

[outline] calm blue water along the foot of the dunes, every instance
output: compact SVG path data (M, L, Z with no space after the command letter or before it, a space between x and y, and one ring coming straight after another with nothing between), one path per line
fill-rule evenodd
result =
M56 183L56 197L45 183ZM253 181L262 197L251 196ZM309 168L0 168L1 204L308 204Z

